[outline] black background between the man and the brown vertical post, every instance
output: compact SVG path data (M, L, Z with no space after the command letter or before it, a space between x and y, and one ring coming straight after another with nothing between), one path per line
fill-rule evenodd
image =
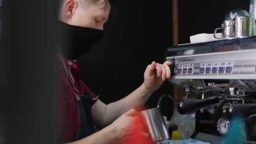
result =
M112 6L104 40L78 60L82 80L101 101L127 96L143 83L148 64L163 62L165 48L172 45L171 6L171 0L117 1ZM152 96L152 104L157 97Z

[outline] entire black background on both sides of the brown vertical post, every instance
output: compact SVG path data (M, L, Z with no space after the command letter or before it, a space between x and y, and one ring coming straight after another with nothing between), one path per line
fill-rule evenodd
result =
M232 8L249 9L249 0L179 0L179 44L189 36L213 33ZM152 61L163 62L165 48L172 46L171 0L117 0L112 5L104 40L78 60L82 80L108 104L122 99L143 83L143 74ZM171 93L172 88L164 85ZM155 92L147 107L156 107ZM172 102L163 103L171 115Z

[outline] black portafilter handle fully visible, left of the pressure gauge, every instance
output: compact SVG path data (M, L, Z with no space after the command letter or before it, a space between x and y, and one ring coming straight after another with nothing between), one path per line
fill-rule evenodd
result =
M177 110L181 115L189 114L201 109L203 107L209 106L211 104L217 104L221 101L219 96L211 96L205 99L188 99L186 101L181 101L177 105Z

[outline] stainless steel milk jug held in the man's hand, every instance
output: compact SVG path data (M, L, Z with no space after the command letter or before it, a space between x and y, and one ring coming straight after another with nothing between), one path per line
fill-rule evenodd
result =
M158 103L160 103L161 99L162 98L159 99ZM158 142L170 139L170 134L166 127L160 106L141 111L140 113L144 117L149 131L149 136L153 141Z

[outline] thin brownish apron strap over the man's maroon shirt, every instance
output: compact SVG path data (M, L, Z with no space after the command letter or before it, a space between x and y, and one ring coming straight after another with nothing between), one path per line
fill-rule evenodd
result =
M77 94L79 91L77 90L77 88L75 87L75 80L71 74L71 70L70 70L70 66L69 66L69 69L67 69L67 65L63 59L63 57L59 54L59 59L61 60L61 65L62 67L64 68L64 71L67 75L67 77L69 78L69 82L71 83L73 89L74 89L74 93L75 93L75 98L77 99L77 101L80 101L80 97L79 95Z

